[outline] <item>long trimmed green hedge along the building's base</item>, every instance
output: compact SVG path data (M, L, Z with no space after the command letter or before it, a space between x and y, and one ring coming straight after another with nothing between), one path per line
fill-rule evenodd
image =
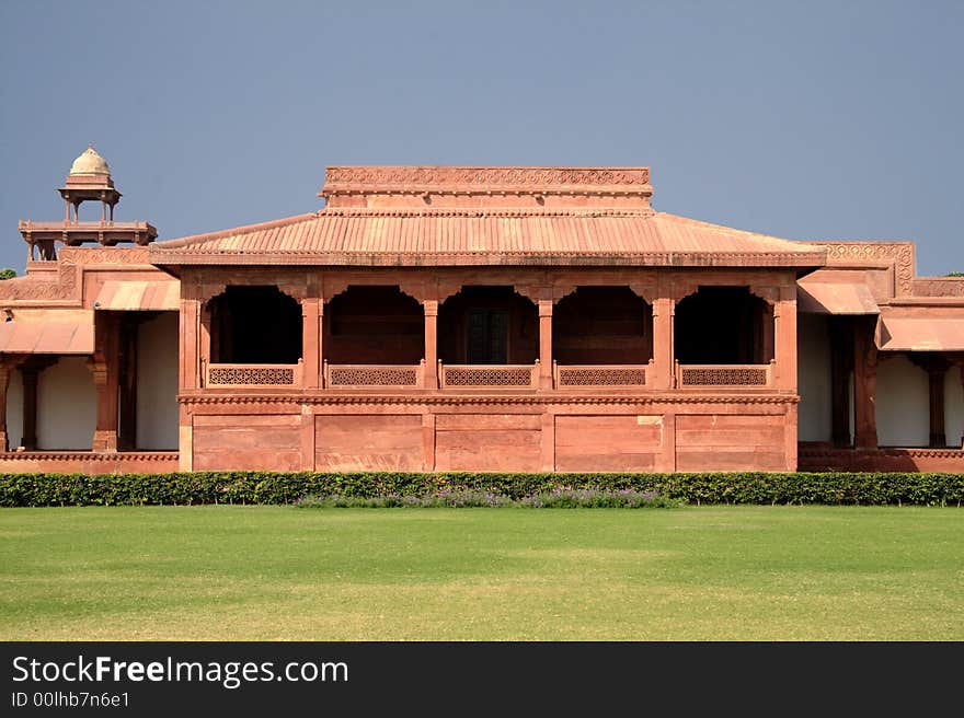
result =
M291 503L308 495L491 491L518 499L556 488L632 488L690 503L961 506L964 474L418 474L398 472L0 474L0 506Z

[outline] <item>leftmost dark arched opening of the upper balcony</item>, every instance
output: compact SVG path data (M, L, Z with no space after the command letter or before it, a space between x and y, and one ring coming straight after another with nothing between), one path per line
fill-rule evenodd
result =
M295 364L301 308L277 287L228 287L209 303L213 363Z

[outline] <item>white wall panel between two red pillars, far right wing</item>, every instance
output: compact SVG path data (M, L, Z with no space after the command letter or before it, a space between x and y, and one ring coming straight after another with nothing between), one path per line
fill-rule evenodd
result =
M930 442L927 372L906 356L880 354L877 363L877 444L926 447Z

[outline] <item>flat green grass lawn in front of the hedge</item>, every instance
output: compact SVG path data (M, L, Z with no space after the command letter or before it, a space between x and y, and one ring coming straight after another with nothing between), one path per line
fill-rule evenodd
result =
M0 510L4 640L964 639L940 508Z

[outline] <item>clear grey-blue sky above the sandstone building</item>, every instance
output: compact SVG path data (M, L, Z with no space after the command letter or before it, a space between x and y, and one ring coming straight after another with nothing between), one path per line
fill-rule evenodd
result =
M0 68L18 271L88 142L161 239L311 211L325 164L646 164L657 209L964 270L962 1L0 0Z

